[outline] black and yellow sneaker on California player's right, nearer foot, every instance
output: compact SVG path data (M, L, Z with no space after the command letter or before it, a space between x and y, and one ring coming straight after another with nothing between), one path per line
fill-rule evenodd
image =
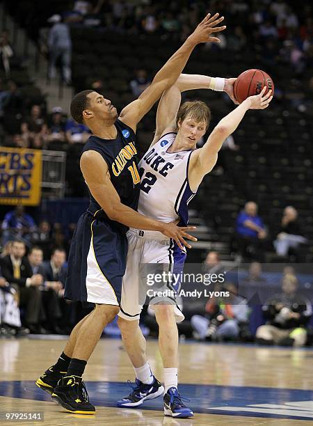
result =
M65 410L75 414L95 414L82 377L65 376L54 388L51 397Z

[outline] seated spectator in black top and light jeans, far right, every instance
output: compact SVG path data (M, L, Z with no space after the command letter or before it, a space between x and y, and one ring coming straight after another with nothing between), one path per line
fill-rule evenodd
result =
M297 210L289 205L284 209L282 221L277 239L274 241L276 253L280 256L286 256L289 248L298 248L301 243L307 242L303 237L303 232L298 222Z

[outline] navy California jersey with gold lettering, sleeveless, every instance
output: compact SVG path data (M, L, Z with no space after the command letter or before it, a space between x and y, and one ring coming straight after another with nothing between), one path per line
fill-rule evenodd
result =
M115 127L118 135L115 139L102 139L98 136L90 136L83 147L83 152L93 150L99 152L109 167L109 173L113 187L120 196L121 203L137 210L140 191L140 177L138 174L138 155L136 150L136 134L133 129L116 120ZM102 173L99 170L99 173ZM90 194L90 191L89 191ZM92 194L88 211L91 214L101 210L101 206ZM126 226L111 221L105 212L101 215L113 226L121 230L127 230Z

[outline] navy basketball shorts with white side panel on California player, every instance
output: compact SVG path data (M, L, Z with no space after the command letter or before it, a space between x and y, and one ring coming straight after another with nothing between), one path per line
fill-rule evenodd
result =
M77 223L68 259L65 298L119 306L126 269L126 233L95 216L86 212Z

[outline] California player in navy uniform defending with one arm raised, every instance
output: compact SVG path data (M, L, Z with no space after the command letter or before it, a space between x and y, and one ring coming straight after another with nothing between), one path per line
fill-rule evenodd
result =
M83 371L106 324L120 310L122 276L125 274L128 227L159 231L181 248L190 227L149 219L136 212L140 177L137 168L136 126L166 88L175 83L195 45L219 41L209 37L223 31L223 17L207 15L184 45L154 77L138 100L120 116L102 95L93 90L78 93L71 104L77 123L93 135L83 148L81 171L90 191L90 205L77 223L70 248L65 297L95 303L92 313L74 327L64 352L36 384L51 393L72 413L95 413L83 384Z

